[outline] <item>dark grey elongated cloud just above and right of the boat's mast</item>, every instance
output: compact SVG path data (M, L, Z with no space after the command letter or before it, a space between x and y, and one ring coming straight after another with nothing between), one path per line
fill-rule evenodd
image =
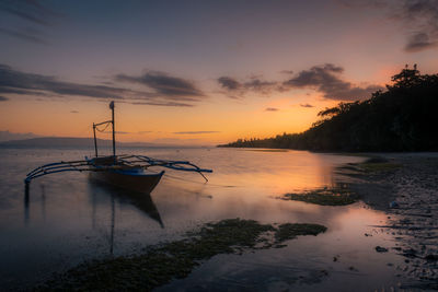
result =
M186 98L186 101L198 101L199 97L205 96L192 81L158 71L149 71L139 77L117 74L115 80L142 84L153 90L157 94L177 97L178 100L188 96L189 98Z

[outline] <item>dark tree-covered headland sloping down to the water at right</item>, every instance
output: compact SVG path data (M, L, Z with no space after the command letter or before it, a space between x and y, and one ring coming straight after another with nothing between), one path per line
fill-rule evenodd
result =
M438 150L438 74L420 74L407 66L392 85L366 101L339 103L318 115L301 133L268 139L239 139L219 147L311 151Z

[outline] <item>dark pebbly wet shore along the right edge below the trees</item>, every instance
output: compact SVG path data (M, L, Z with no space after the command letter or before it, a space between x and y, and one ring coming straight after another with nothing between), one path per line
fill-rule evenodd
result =
M395 268L401 289L438 290L438 154L379 154L400 165L376 172L357 172L356 165L341 174L354 177L350 188L373 209L388 213L389 224L376 225L394 236L393 246L404 264Z

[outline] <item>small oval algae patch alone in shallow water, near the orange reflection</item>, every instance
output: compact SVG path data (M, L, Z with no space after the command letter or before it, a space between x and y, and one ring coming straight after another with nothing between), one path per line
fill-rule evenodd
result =
M280 199L303 201L321 206L346 206L358 200L358 196L347 188L318 188L300 194L286 194Z

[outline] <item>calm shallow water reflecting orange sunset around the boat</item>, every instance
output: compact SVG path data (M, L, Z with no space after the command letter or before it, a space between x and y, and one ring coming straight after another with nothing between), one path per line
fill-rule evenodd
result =
M394 246L393 238L369 226L384 224L384 213L361 202L320 207L276 199L332 186L338 179L333 167L360 157L235 149L125 152L188 160L214 173L205 184L197 174L166 171L151 196L141 197L96 184L83 173L54 174L31 184L26 207L23 178L30 170L91 152L0 149L1 288L32 285L83 260L132 254L205 222L238 217L263 223L320 223L328 231L290 241L286 248L216 256L188 278L159 290L370 291L396 285L394 267L401 259L374 250L377 245ZM333 261L334 256L339 260Z

